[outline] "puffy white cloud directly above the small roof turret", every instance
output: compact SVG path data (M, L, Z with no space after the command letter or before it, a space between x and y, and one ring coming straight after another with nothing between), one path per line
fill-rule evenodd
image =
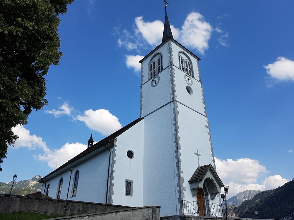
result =
M121 128L118 118L106 109L96 109L95 111L89 109L84 111L83 116L78 115L76 119L83 121L89 128L103 135L109 135Z

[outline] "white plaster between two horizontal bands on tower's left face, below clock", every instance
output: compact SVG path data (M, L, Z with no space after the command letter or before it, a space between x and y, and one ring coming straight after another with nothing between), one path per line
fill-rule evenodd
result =
M151 86L151 80L142 85L142 115L146 116L171 101L171 83L168 68L158 74L160 77L156 87Z

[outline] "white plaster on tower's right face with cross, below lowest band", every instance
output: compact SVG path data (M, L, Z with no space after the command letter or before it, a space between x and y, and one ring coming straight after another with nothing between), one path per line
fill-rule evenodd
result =
M195 201L195 197L191 195L188 180L198 167L198 158L194 153L201 154L199 156L200 166L213 163L211 145L209 140L207 118L201 114L179 104L179 136L181 143L181 170L184 178L184 186L186 187L185 200Z

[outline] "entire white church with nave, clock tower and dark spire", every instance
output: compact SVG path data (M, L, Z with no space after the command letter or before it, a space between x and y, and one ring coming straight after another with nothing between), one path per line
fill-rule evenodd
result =
M54 199L160 206L161 216L221 216L206 205L220 205L224 185L199 60L173 39L165 13L162 43L140 61L140 118L96 144L91 134L86 150L39 180L42 192Z

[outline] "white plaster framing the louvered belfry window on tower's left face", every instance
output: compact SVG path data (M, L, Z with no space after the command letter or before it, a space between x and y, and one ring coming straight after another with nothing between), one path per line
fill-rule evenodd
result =
M162 45L160 48L157 50L154 50L153 53L148 55L148 57L141 63L141 67L143 68L143 83L148 81L148 73L149 73L149 61L152 59L153 55L156 53L161 53L162 54L162 64L163 64L163 69L166 68L169 63L168 63L168 43L165 43Z

